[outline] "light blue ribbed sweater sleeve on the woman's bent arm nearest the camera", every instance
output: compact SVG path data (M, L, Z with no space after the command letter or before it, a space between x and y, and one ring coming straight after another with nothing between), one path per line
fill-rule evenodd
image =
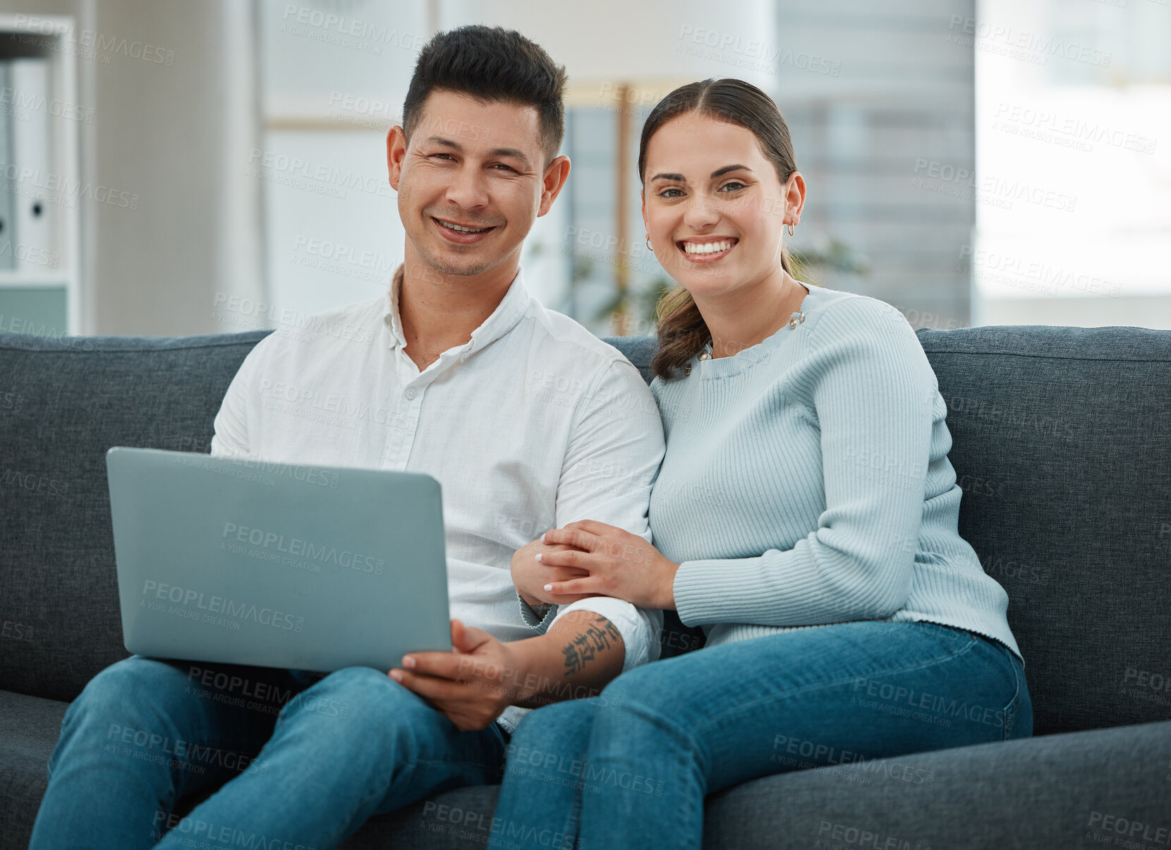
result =
M934 372L902 313L870 298L827 308L810 328L804 356L802 381L786 395L812 408L821 431L824 508L817 528L786 551L680 564L676 607L689 626L885 619L906 603Z

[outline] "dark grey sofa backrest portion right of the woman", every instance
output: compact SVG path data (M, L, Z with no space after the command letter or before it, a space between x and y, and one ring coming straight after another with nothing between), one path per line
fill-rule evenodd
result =
M1171 719L1171 331L919 331L1038 734Z

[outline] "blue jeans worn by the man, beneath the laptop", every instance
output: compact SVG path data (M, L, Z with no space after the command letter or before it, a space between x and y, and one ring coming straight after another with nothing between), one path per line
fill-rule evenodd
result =
M500 781L495 723L460 732L370 667L290 671L132 655L61 721L30 848L326 850L384 814ZM176 801L222 787L186 817Z

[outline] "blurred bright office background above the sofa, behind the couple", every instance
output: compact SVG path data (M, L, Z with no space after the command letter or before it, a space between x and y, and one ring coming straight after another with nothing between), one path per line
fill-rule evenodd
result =
M378 297L419 48L512 27L570 76L526 283L653 331L638 132L737 76L789 123L804 278L915 327L1171 328L1171 0L5 0L0 331L227 333Z

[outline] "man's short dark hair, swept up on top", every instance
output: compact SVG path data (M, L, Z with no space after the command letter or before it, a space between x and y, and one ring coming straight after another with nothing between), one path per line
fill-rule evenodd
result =
M424 45L403 103L408 141L419 123L423 102L434 90L470 95L485 103L535 107L545 162L561 150L566 69L515 29L473 25L438 33Z

